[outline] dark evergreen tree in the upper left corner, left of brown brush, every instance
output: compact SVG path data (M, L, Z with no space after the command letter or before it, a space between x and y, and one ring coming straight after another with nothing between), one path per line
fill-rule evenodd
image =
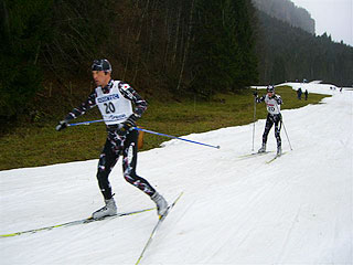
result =
M43 42L50 35L45 25L52 1L3 0L0 44L0 118L21 114L42 82L38 64Z

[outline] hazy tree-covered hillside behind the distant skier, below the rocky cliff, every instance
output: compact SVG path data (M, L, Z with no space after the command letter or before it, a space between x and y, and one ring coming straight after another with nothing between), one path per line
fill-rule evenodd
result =
M260 84L321 80L353 84L353 47L331 36L314 36L258 11L257 54Z

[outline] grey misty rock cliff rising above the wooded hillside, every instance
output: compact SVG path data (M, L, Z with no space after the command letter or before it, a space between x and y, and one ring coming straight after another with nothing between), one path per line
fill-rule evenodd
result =
M315 33L315 21L310 13L295 6L290 0L253 0L256 8L268 15L288 22L311 34Z

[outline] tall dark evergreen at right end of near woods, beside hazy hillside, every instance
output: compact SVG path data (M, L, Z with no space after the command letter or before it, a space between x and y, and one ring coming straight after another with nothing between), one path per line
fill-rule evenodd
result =
M192 87L196 93L208 97L216 92L236 91L256 78L246 2L197 1L191 53Z

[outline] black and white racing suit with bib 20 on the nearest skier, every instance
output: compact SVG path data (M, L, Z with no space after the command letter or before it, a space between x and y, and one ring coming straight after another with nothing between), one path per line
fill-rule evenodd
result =
M133 112L132 104L135 105ZM130 115L141 117L147 109L146 100L127 83L110 80L107 86L96 87L87 100L74 108L65 120L74 119L95 106L98 106L107 126L107 140L99 157L97 171L97 180L104 199L109 200L113 197L108 177L120 155L122 155L122 171L126 181L151 197L156 190L146 179L136 173L138 130L128 130L122 136L118 134L118 125Z

